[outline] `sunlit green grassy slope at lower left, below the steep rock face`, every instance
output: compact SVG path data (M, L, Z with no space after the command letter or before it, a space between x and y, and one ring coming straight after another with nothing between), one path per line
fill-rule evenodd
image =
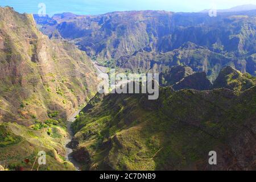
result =
M39 170L74 170L73 164L64 159L67 132L58 126L52 126L51 135L47 130L35 131L16 123L0 124L0 162L10 170L31 170L38 152L45 151L46 165ZM37 168L36 161L34 170Z

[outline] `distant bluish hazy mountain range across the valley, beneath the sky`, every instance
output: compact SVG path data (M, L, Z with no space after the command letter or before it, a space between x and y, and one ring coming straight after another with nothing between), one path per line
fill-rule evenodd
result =
M44 34L51 38L57 32L98 62L110 61L117 67L139 72L138 67L142 71L152 69L155 60L164 55L166 60L174 59L174 63L156 63L156 69L172 67L180 61L172 53L191 43L194 46L187 48L185 55L189 54L189 49L200 49L207 52L204 53L207 59L200 68L197 64L202 65L204 58L196 56L189 67L196 72L207 72L211 81L226 67L226 62L242 73L255 75L255 56L252 55L256 49L256 10L221 13L217 17L167 11L125 11L79 18L61 16L63 20L53 16L55 24L42 23L37 16L35 20ZM224 64L220 64L219 59Z

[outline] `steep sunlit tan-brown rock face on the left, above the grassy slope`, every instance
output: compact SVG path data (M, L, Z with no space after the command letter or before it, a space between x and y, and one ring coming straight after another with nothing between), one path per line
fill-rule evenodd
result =
M0 120L32 125L55 111L65 119L88 102L97 75L84 52L49 40L32 15L5 7L0 8L0 83Z

